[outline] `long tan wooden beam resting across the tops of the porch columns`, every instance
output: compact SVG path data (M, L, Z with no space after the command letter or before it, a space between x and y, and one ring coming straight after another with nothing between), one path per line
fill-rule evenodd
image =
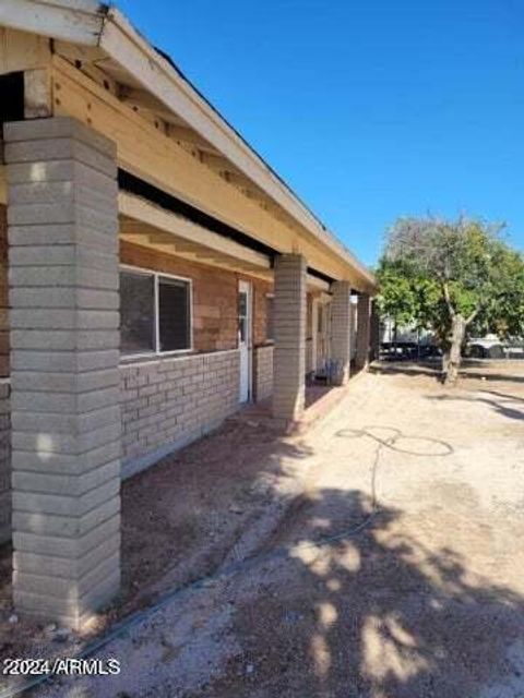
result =
M55 115L88 123L117 143L119 166L278 252L300 252L308 265L353 288L368 287L340 255L309 234L291 232L270 212L203 167L172 139L58 56L53 56ZM59 98L59 103L57 101ZM295 244L298 240L298 249Z

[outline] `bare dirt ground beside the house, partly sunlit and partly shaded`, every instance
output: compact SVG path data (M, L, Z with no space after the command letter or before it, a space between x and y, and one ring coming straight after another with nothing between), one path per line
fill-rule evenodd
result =
M100 627L180 591L95 653L119 676L37 694L522 698L523 420L524 363L501 362L454 389L383 365L296 437L229 421L124 485Z

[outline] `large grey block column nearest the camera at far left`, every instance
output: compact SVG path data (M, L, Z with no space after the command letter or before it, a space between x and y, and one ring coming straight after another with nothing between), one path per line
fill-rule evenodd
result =
M8 123L13 594L79 627L120 583L116 148Z

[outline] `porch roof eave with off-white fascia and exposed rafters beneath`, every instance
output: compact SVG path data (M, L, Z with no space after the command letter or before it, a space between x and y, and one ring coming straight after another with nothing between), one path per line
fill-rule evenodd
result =
M118 84L119 99L157 115L170 137L190 144L202 163L273 214L322 255L336 258L338 277L372 292L369 269L219 115L165 53L148 44L114 7L95 0L3 0L0 25L66 45ZM64 49L66 50L66 49ZM341 264L342 263L342 264ZM347 273L344 272L347 269ZM320 272L325 269L319 268Z

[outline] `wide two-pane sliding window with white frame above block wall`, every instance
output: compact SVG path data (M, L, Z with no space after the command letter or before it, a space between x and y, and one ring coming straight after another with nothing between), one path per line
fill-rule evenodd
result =
M124 354L190 350L191 281L121 269L120 335Z

